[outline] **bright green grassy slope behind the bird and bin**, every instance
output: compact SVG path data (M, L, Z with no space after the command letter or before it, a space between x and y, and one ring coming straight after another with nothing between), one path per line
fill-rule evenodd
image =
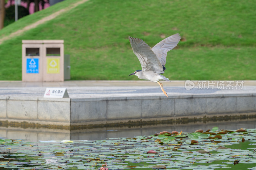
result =
M79 0L21 18L0 39ZM21 41L63 39L72 80L137 80L128 35L150 47L175 33L164 76L171 80L256 79L255 1L90 0L0 45L0 80L21 80Z

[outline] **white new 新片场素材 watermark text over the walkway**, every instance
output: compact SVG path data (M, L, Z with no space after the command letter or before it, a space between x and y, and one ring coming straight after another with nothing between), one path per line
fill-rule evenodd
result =
M186 90L191 90L194 89L194 87L196 89L219 89L219 90L231 90L231 89L235 89L235 90L242 90L243 89L243 85L244 85L244 81L243 80L236 80L236 81L213 81L213 80L204 80L204 81L197 81L196 85L193 81L190 80L186 80L185 82L185 89Z

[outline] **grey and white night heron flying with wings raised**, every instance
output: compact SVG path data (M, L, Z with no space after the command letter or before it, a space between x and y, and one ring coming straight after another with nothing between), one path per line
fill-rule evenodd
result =
M177 46L180 38L180 34L176 33L160 41L153 48L150 48L145 41L129 36L132 50L138 57L142 68L142 70L136 70L129 76L135 75L140 79L158 83L165 96L167 96L166 92L164 91L163 84L160 83L159 80L170 81L161 74L163 74L165 70L164 66L167 52Z

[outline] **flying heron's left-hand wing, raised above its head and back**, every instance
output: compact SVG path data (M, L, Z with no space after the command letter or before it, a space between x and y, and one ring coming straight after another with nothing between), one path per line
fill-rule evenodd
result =
M163 66L151 48L139 38L129 36L129 41L134 54L138 57L142 71L155 71L164 73Z

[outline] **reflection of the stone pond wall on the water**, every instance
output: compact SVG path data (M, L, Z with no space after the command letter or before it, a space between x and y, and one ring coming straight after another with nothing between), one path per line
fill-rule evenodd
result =
M149 136L160 131L183 131L194 132L198 129L212 129L218 126L219 129L236 130L240 128L255 129L256 120L241 120L228 122L208 122L208 123L189 123L177 125L155 125L144 127L123 127L123 128L102 128L102 129L81 129L81 130L61 130L61 129L21 129L21 128L6 128L0 127L0 137L9 139L27 139L31 142L38 141L62 141L69 140L103 140L106 138L117 137L134 137L134 136Z

